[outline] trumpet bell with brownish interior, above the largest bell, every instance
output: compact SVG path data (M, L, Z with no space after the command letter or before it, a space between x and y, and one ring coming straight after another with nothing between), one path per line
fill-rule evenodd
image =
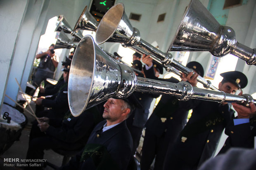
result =
M127 43L133 35L133 30L123 4L118 3L103 16L96 31L95 41L97 44L106 41Z

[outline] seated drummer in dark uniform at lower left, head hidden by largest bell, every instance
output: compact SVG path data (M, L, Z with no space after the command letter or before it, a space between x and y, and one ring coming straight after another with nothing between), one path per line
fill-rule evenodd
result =
M43 159L45 149L82 149L95 125L102 121L97 119L99 115L102 116L100 106L94 106L78 117L73 117L68 111L63 121L62 118L38 118L40 123L34 122L30 131L26 159Z

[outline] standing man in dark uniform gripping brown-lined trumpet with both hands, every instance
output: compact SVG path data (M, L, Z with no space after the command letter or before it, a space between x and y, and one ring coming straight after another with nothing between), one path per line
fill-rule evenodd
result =
M159 66L153 64L152 59L149 56L143 56L142 61L147 64L144 69L145 75L150 77L155 71L159 70ZM204 69L198 62L190 62L187 67L194 69L200 76L204 76ZM161 68L160 68L161 69ZM160 73L162 73L160 71ZM171 83L178 83L179 80L176 78L156 78L159 74L150 78L162 81L168 81ZM192 72L189 74L190 77L183 75L183 81L188 80L193 86L197 84L197 74L192 76ZM178 101L174 96L163 95L158 105L154 109L154 112L149 117L146 123L145 138L142 146L142 157L141 157L141 169L149 170L154 158L154 170L161 170L163 168L164 158L168 145L173 145L173 142L178 137L178 134L183 129L187 122L187 114L189 108L183 104L184 102Z

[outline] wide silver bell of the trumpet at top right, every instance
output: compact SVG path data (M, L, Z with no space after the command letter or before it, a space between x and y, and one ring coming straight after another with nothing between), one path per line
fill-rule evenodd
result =
M220 24L199 0L191 0L168 51L211 51Z

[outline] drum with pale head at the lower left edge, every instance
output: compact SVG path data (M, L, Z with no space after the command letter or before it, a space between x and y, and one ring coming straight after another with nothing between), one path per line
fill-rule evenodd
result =
M8 104L2 105L0 114L0 155L19 140L21 131L27 123L26 116Z

